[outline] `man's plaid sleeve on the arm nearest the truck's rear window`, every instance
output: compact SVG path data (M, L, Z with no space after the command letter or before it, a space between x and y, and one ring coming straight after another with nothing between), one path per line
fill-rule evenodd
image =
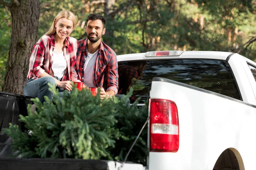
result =
M108 62L107 68L107 82L108 82L108 89L106 91L113 90L115 94L118 91L118 63L116 53L113 52L109 54L110 61Z

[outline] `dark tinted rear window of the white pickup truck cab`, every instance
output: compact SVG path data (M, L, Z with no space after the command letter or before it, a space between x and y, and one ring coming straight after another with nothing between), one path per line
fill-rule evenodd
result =
M161 59L119 62L119 94L134 88L130 100L148 98L153 77L163 77L241 100L229 64L216 59ZM137 73L136 73L137 71Z

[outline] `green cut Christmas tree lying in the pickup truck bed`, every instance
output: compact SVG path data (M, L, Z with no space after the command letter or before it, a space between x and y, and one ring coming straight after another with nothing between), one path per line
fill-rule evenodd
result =
M50 86L54 93L51 101L32 99L35 113L28 106L28 116L20 115L29 133L21 132L17 125L3 130L12 137L15 155L23 158L76 158L110 159L123 161L131 144L147 119L147 105L129 107L127 99L132 89L121 100L116 97L101 101L87 89L64 92ZM128 161L145 162L147 129L131 151Z

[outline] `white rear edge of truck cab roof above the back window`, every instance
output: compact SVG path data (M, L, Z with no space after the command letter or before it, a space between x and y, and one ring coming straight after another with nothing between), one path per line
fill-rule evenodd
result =
M172 51L177 52L177 51ZM135 54L123 54L118 55L118 61L130 61L130 60L144 60L144 59L223 59L226 60L231 52L220 52L220 51L179 51L179 56L157 56L157 57L145 57L146 53L135 53Z

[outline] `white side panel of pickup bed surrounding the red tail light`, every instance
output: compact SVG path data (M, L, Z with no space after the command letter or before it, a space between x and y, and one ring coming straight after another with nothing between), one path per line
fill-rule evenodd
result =
M154 99L177 105L179 147L177 152L151 150L149 170L213 169L227 148L235 148L253 163L256 137L247 132L256 128L255 106L160 77L152 81L150 100Z

